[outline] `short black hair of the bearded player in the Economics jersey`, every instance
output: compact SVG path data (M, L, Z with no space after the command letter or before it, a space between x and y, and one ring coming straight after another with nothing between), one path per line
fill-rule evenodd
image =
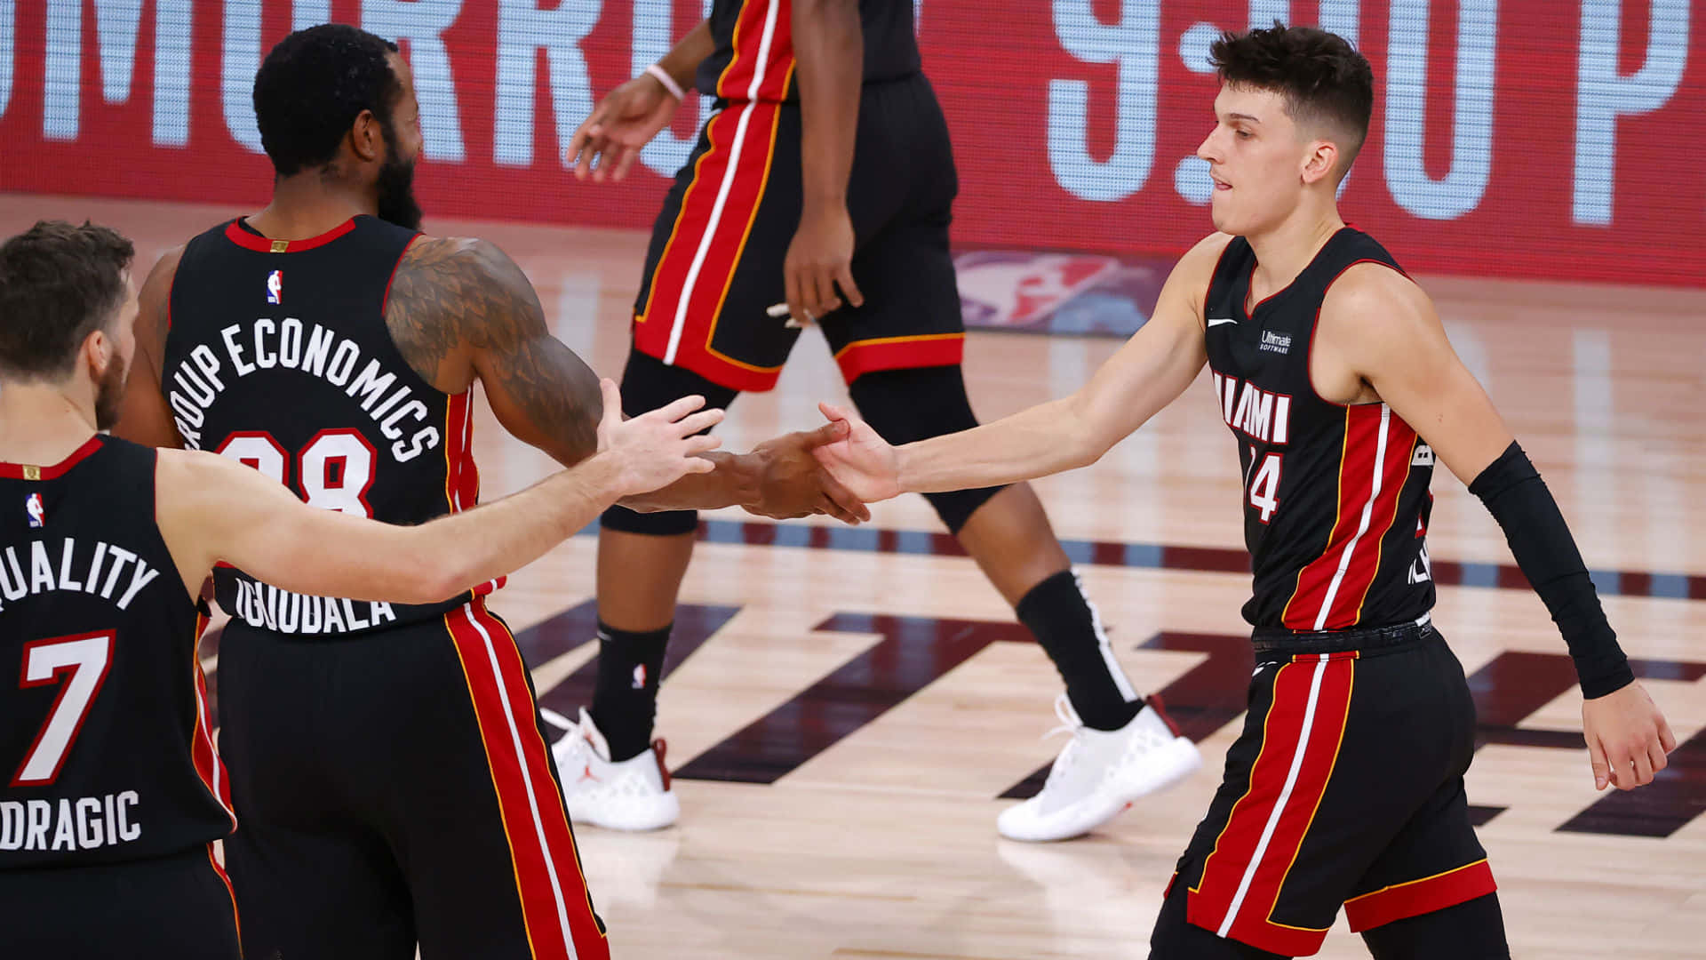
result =
M322 167L363 109L392 142L391 111L403 82L389 56L397 44L346 24L297 31L266 55L254 75L254 121L278 176Z

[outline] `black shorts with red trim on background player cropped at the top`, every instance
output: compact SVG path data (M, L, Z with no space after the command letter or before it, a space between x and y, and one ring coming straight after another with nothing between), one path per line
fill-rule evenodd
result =
M848 214L865 306L817 323L848 383L959 364L966 328L949 253L959 179L923 73L867 84L856 137ZM800 106L718 101L652 227L635 348L730 389L771 389L800 335L768 313L785 301L800 196Z

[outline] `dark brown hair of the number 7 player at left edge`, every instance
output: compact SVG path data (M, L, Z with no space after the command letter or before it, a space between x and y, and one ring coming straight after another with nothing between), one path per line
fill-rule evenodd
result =
M41 220L0 244L0 374L61 378L130 296L136 249L111 227Z

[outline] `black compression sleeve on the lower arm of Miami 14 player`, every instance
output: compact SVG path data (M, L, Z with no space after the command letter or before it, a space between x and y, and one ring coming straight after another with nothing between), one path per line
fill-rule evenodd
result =
M1512 441L1469 485L1505 530L1505 540L1522 576L1552 613L1558 632L1576 663L1576 680L1587 699L1604 697L1634 680L1617 634L1605 622L1581 550L1570 536L1558 500L1546 489L1529 456Z

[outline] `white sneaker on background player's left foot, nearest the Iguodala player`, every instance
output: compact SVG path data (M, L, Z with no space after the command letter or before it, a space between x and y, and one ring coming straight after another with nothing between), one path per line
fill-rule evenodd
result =
M563 803L575 825L592 823L611 830L657 830L681 817L681 801L669 787L664 741L619 764L611 762L592 714L580 709L580 723L556 711L539 711L546 723L568 733L551 746L563 776Z

